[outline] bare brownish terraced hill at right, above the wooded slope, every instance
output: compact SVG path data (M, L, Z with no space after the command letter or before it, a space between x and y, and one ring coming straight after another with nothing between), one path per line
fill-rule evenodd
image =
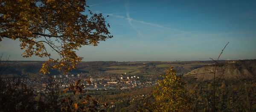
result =
M196 78L197 81L212 80L214 76L211 71L214 71L214 68L214 64L200 67L186 73L184 77ZM221 62L218 64L216 77L226 80L256 78L256 59Z

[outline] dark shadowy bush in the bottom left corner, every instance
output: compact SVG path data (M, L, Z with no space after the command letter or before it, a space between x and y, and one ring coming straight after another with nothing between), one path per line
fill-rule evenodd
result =
M0 112L35 112L34 91L20 78L0 78L0 90Z

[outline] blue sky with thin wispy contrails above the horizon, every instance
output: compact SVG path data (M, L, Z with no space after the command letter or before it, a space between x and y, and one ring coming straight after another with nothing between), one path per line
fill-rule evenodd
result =
M256 59L256 0L87 0L87 5L106 17L113 38L79 48L82 61L210 60L227 42L220 59ZM0 52L10 60L46 60L23 58L19 44L3 39Z

